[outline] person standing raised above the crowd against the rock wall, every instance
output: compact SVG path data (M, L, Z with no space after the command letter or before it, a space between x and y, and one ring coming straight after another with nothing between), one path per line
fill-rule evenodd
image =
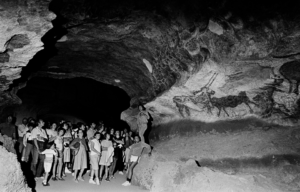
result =
M140 112L137 115L137 126L141 141L145 143L144 133L147 130L147 124L148 120L150 119L150 116L148 114L148 111L144 108L144 106L140 105L139 110Z

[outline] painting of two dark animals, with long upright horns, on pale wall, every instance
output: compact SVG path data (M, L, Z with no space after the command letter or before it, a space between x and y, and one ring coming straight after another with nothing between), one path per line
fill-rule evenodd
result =
M179 113L182 117L190 116L190 110L203 112L206 111L209 114L212 114L212 109L216 107L218 111L218 116L220 116L221 112L229 116L226 108L235 108L238 105L244 103L249 107L250 112L253 110L250 107L250 103L256 105L256 103L252 102L245 91L239 92L238 95L229 95L226 97L212 97L215 94L215 91L210 89L211 84L217 77L217 73L214 73L210 78L209 82L201 87L200 90L194 91L191 96L175 96L173 97L173 102L175 103Z

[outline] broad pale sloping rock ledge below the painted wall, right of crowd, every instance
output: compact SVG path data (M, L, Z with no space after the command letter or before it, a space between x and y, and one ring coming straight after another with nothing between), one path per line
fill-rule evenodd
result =
M169 127L168 137L152 141L135 182L155 192L300 191L297 127L236 123L185 134Z

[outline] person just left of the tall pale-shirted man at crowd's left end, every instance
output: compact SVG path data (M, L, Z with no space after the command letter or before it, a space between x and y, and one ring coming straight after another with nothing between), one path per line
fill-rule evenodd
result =
M31 156L33 157L33 148L34 148L34 143L33 143L33 139L31 137L31 131L33 129L33 127L35 127L34 124L29 123L27 125L27 132L23 137L23 145L24 145L24 149L22 152L22 158L21 161L23 162L28 162L29 160L29 155L31 154Z

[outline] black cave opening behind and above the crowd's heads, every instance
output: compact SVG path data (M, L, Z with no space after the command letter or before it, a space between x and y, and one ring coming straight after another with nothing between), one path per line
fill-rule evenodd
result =
M21 107L34 111L37 118L58 121L73 117L86 123L102 120L114 127L120 126L120 114L130 102L124 90L83 77L34 77L17 95L22 100Z

